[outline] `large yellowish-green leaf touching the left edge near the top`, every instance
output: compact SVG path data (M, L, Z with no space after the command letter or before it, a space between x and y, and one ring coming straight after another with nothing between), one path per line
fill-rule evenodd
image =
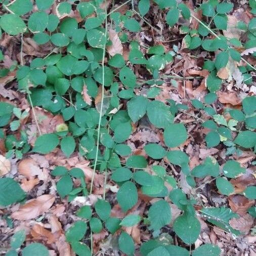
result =
M0 26L10 35L24 33L27 30L24 21L15 14L4 14L0 19Z

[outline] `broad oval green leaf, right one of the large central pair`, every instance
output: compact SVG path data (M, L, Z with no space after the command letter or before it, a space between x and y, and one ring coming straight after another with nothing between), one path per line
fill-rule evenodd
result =
M147 115L151 123L157 128L164 128L174 120L169 108L161 101L150 101L147 106Z

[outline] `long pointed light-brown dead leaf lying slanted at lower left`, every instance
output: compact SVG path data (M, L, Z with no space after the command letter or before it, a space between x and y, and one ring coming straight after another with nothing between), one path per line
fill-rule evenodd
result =
M35 199L28 200L24 205L12 214L16 220L31 220L44 214L55 201L54 195L41 195Z

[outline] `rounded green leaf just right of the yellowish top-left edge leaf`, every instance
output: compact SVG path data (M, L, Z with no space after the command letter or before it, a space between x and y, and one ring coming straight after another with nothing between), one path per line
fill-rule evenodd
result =
M49 17L45 12L35 12L28 19L28 28L33 32L43 32L48 24Z

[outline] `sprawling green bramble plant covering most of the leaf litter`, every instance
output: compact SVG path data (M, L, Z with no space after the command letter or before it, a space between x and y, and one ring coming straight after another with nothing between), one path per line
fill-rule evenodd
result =
M218 91L227 82L233 82L236 90L252 82L256 69L247 55L256 57L256 18L248 24L230 24L228 14L234 5L226 1L203 1L194 10L186 2L175 0L119 2L2 1L5 13L0 19L1 35L20 38L21 50L19 63L2 69L0 76L16 70L17 90L26 95L31 108L30 112L11 102L0 102L0 139L5 141L5 157L22 159L24 154L49 154L60 148L66 158L78 152L81 158L89 159L90 182L86 182L88 177L81 168L68 169L60 164L50 172L57 179L59 201L67 199L68 203L93 194L96 175L104 175L102 198L79 207L75 221L65 230L65 239L77 255L93 255L93 235L103 229L115 237L118 250L127 255L134 255L138 249L143 256L220 255L221 249L214 244L191 248L200 235L198 218L239 236L241 233L229 223L239 215L226 206L209 207L201 202L198 193L207 181L199 183L210 177L216 191L225 197L241 194L255 199L255 186L237 192L231 180L246 173L245 166L232 156L241 155L245 149L256 150L256 97L251 93L242 99L241 108L229 105L224 111L219 111L215 104L221 104ZM121 11L124 6L125 11ZM251 15L255 15L255 1L249 0L249 6ZM160 26L168 26L168 30L175 27L183 35L182 49L172 42L168 47L172 50L166 50L163 43L147 47L132 36L149 26L153 34L162 37L160 26L153 26L148 19L149 11L156 7L165 19ZM51 8L54 11L49 12ZM197 25L192 26L192 22ZM231 26L238 34L245 34L246 40L227 33ZM22 53L25 37L51 50L29 61ZM129 47L126 55L123 46ZM195 58L199 51L204 51L202 69L207 75L164 74L175 59L182 60L181 50L189 51ZM4 60L2 52L0 60ZM139 77L138 67L144 69L146 78ZM183 104L170 97L163 101L155 99L167 82L177 89L179 81L193 79L203 80L208 93ZM54 132L42 132L42 120L35 111L38 107L54 116L61 115L65 123L56 125ZM37 129L32 144L24 121L29 114ZM186 153L191 131L179 114L192 117L200 129L207 130L204 145L208 149L225 148L227 160L209 155L191 167ZM143 122L161 134L162 139L161 143L148 143L138 153L127 140L137 123ZM184 190L181 177L189 193ZM107 192L111 186L116 187ZM26 200L26 193L16 179L1 178L0 187L1 206ZM108 193L116 193L114 199ZM146 203L143 212L136 210L141 200ZM123 218L111 214L116 203ZM178 217L172 214L170 203L181 212ZM248 212L255 217L255 209ZM150 236L140 246L126 228L138 225ZM174 244L173 232L180 246ZM35 251L49 255L47 247L39 243L20 249L24 241L24 231L15 233L7 255L18 255L19 251L24 256Z

